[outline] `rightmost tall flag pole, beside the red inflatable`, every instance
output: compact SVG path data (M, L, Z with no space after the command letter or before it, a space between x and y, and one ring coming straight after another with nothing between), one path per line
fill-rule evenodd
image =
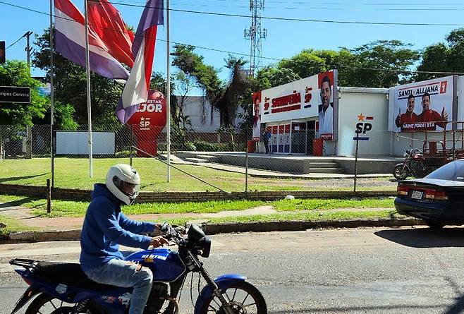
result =
M169 52L169 0L166 0L166 150L168 159L167 181L171 182L171 56Z

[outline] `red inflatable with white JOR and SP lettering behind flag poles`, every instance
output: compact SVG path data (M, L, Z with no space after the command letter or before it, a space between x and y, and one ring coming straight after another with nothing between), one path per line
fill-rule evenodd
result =
M157 90L149 90L147 102L140 104L128 121L140 150L157 155L158 136L166 126L166 120L166 97ZM140 151L137 156L149 157Z

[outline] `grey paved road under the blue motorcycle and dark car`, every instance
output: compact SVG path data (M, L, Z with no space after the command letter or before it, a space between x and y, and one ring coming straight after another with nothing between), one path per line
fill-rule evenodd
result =
M464 313L464 229L341 229L213 236L213 275L247 274L269 313ZM0 245L0 313L25 284L9 258L75 260L79 245ZM55 255L56 254L56 255ZM195 286L196 288L196 286ZM185 291L181 313L192 313Z

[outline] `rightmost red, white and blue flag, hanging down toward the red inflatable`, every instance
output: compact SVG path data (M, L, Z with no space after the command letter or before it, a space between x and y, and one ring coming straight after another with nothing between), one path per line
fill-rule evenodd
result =
M121 102L116 107L116 116L121 123L126 123L130 115L137 111L138 104L147 102L157 28L164 23L163 2L163 0L147 1L135 32L132 46L132 53L135 56L134 66L124 87Z

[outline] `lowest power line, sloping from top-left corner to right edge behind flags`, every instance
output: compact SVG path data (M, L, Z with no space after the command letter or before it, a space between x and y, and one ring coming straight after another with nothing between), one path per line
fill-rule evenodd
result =
M90 0L92 1L92 0ZM12 5L12 4L8 4L8 3L5 3L4 1L0 1L0 4L7 4L7 5L11 5L11 6L15 6L17 8L21 8L23 10L27 10L27 11L32 11L32 12L35 12L35 13L40 13L40 14L43 14L45 16L50 16L49 13L45 13L45 12L42 12L42 11L37 11L37 10L34 10L34 9L31 9L31 8L25 8L23 6L16 6L16 5ZM53 15L54 18L61 18L63 20L69 20L69 21L72 21L74 23L78 23L76 22L75 20L71 19L71 18L62 18L61 16L55 16ZM89 24L90 25L90 24ZM98 28L102 28L104 30L111 30L111 31L114 31L114 32L122 32L121 30L114 30L114 29L111 29L111 28L104 28L102 26L99 26L99 25L91 25L91 26L95 26L95 27L98 27ZM21 37L22 38L22 37ZM20 38L20 39L21 39ZM147 39L156 39L157 41L159 42L167 42L167 40L161 40L159 38L152 38L152 37L145 37ZM19 39L19 40L20 40ZM18 42L18 40L17 40ZM204 49L204 50L209 50L209 51L213 51L213 52L221 52L221 53L226 53L226 54L235 54L237 56L247 56L249 57L250 54L243 54L243 53L240 53L240 52L231 52L231 51L228 51L228 50L224 50L224 49L215 49L215 48L211 48L211 47L202 47L202 46L197 46L197 45L194 45L194 44L185 44L185 43L182 43L182 42L173 42L172 40L169 41L171 44L182 44L182 45L186 45L186 46L192 46L192 47L195 47L197 49ZM298 60L289 60L289 59L279 59L279 58L272 58L272 57L269 57L269 56L262 56L261 57L262 59L267 59L267 60L271 60L271 61L291 61L293 64L298 64L298 63L304 63L303 61L298 61ZM348 68L348 69L351 69L351 70L363 70L363 71L380 71L380 72L390 72L390 73L427 73L427 74L444 74L444 75L464 75L464 72L443 72L443 71L405 71L405 70L395 70L395 69L388 69L388 68L365 68L365 67L351 67L351 66L343 66L343 65L334 65L334 64L326 64L327 67L341 67L341 68Z

